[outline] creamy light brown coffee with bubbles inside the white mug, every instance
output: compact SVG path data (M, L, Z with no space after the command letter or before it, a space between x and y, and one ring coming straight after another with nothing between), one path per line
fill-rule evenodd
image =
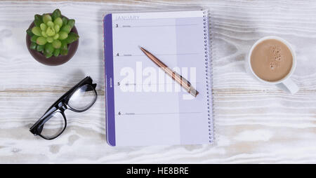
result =
M250 62L259 78L264 81L279 81L291 71L293 56L282 41L266 39L255 46Z

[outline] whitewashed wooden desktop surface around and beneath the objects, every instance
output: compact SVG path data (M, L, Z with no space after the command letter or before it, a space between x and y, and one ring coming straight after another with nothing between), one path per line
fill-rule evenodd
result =
M216 144L112 147L105 135L103 15L111 11L206 8L213 23ZM25 30L35 13L60 8L76 19L79 48L58 67L29 55ZM246 74L244 59L262 36L295 48L288 95ZM316 1L1 1L0 163L316 163ZM29 127L84 76L98 83L88 111L67 111L65 132L46 141Z

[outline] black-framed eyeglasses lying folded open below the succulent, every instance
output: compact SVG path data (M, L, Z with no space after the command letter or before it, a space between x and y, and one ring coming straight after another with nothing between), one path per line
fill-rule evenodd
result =
M51 105L29 131L44 139L55 139L67 126L64 111L86 111L96 102L97 97L96 83L93 84L92 78L87 76Z

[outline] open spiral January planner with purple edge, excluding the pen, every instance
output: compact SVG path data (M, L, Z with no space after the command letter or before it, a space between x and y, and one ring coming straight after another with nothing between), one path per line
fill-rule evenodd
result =
M107 142L112 146L213 143L207 11L105 15ZM193 97L142 46L198 90Z

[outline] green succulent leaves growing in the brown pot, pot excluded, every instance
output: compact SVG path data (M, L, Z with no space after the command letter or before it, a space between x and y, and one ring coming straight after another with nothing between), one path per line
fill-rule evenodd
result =
M68 44L79 39L78 34L71 32L72 27L74 20L62 17L59 9L52 15L34 15L34 27L27 29L31 36L29 48L43 53L46 58L67 55Z

